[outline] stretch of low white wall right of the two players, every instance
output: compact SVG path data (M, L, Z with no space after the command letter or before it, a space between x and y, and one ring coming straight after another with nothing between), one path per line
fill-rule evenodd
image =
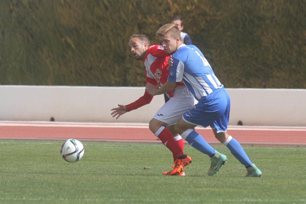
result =
M306 126L306 89L226 89L230 124Z

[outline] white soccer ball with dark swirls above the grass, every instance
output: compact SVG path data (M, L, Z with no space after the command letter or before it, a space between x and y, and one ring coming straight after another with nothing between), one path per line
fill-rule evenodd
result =
M65 161L70 163L77 162L83 157L83 144L76 139L67 139L62 143L61 154Z

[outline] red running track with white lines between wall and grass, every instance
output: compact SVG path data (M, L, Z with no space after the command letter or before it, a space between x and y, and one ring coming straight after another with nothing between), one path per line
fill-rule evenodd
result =
M221 144L211 128L196 128L210 144ZM228 132L242 145L305 146L306 127L229 126ZM0 122L0 139L161 143L147 124Z

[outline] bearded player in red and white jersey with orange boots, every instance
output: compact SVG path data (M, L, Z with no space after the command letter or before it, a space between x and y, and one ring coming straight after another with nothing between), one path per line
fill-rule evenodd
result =
M169 75L168 58L164 48L160 45L150 45L145 35L132 35L129 39L129 48L136 60L142 60L145 66L146 83L162 86ZM174 125L185 111L195 104L183 82L178 82L172 91L167 92L170 100L166 102L149 122L151 132L173 153L174 169L164 172L165 175L185 176L184 167L191 163L191 158L183 151L182 137L174 130ZM111 115L118 119L126 112L140 108L151 102L153 96L144 91L144 95L128 105L119 105L111 109ZM172 136L169 136L172 135Z

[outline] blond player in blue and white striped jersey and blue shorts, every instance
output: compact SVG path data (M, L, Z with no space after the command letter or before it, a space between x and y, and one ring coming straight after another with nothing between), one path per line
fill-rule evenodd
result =
M172 54L172 66L168 81L160 88L147 84L147 92L160 95L172 90L179 81L198 100L189 108L175 126L175 130L194 148L211 158L208 175L214 175L227 161L226 155L217 152L194 129L196 126L211 126L215 137L229 148L230 152L246 167L246 176L262 176L240 143L227 132L230 116L230 97L202 52L194 45L185 45L180 30L174 24L165 24L156 32L168 54Z

